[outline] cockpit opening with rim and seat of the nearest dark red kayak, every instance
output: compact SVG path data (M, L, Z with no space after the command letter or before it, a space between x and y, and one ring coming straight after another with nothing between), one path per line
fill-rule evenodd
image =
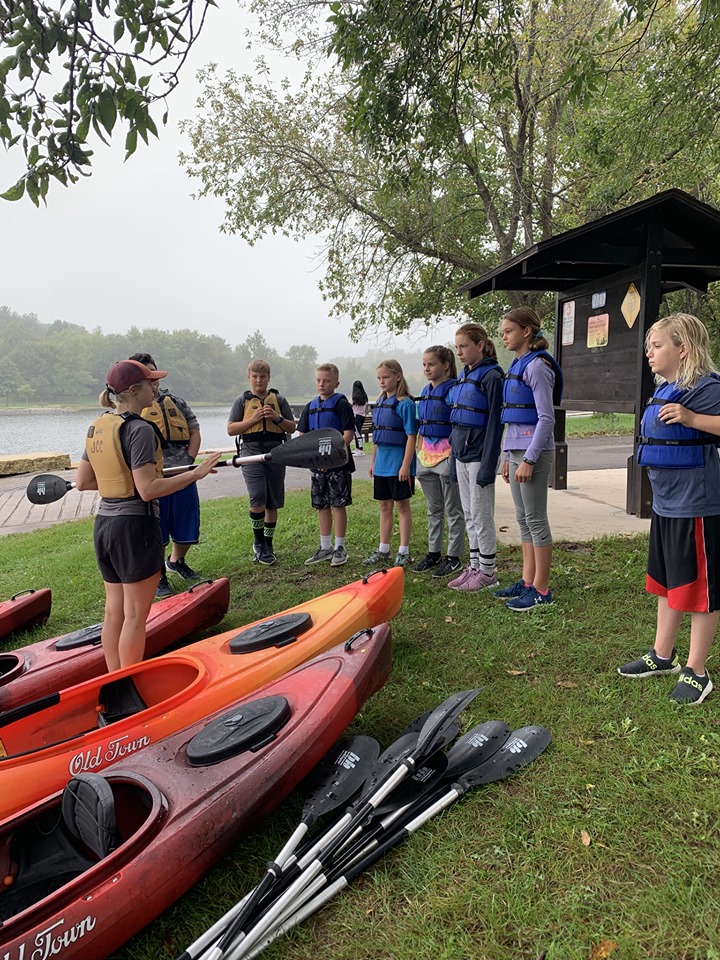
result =
M83 773L62 795L6 822L0 832L0 929L46 897L59 897L68 884L77 886L89 871L97 883L99 865L114 871L120 851L146 842L166 809L144 777Z

